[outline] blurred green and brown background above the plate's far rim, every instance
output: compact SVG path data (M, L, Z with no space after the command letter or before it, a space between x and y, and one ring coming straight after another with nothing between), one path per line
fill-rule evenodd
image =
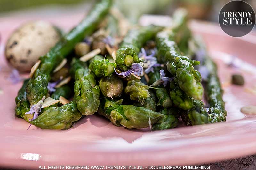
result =
M184 7L189 17L209 21L218 21L219 11L230 0L115 0L117 6L131 21L136 22L141 14L171 15L173 9ZM256 9L255 0L244 0ZM47 12L47 15L58 12L86 11L95 0L0 0L0 17L12 13ZM243 8L237 6L234 8Z

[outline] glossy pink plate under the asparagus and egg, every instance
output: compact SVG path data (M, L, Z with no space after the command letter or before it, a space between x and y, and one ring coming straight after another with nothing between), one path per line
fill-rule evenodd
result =
M48 20L68 30L82 17L79 13L0 18L0 166L38 169L42 165L192 165L256 153L256 117L240 112L245 105L256 105L252 90L256 80L253 66L256 37L250 33L232 38L218 25L196 21L191 22L191 28L203 36L218 63L227 122L149 132L116 127L95 114L66 131L41 130L35 126L26 130L28 122L14 116L14 98L22 83L13 85L8 81L12 69L4 57L7 37L27 18ZM235 63L240 63L240 68L227 67L232 56L237 57ZM229 84L235 72L244 75L243 87Z

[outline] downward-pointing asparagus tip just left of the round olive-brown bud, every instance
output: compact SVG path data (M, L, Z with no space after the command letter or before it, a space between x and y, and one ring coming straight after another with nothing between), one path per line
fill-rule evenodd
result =
M74 101L82 115L92 115L97 112L100 105L100 88L96 85L94 76L82 61L73 59L71 72L75 69ZM72 75L72 74L71 74Z

